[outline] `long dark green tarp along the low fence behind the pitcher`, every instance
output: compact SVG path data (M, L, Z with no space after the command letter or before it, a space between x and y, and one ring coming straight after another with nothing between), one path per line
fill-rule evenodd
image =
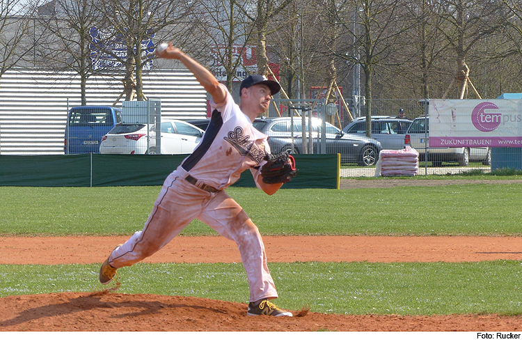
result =
M162 185L187 155L0 156L0 186L111 187ZM297 175L283 188L337 187L337 155L294 155ZM235 183L255 187L250 171Z

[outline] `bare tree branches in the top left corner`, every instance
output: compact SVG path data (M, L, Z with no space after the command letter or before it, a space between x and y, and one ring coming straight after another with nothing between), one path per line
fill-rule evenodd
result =
M38 3L25 0L0 1L0 79L33 50L28 34L37 7Z

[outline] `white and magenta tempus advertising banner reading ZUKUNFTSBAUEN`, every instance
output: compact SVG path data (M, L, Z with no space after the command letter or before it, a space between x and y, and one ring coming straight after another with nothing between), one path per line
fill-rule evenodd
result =
M522 100L429 100L429 146L522 147Z

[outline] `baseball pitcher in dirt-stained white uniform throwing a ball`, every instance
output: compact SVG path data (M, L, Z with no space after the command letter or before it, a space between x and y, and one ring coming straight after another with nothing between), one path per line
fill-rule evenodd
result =
M237 105L211 72L171 43L159 47L156 55L177 59L193 73L212 95L212 118L193 153L166 178L143 230L116 247L102 264L100 282L109 283L118 268L151 256L197 218L236 242L250 287L247 315L292 316L270 302L278 294L258 227L225 192L246 169L257 187L269 195L296 174L293 157L271 155L267 136L252 125L267 111L272 95L280 91L278 82L259 75L247 77Z

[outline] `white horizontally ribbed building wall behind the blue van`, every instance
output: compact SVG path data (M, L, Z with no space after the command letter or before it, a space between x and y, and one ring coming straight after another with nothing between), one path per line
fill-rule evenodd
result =
M87 104L113 105L123 90L121 79L90 77ZM161 99L162 118L207 116L207 93L188 70L144 72L143 93ZM80 79L74 72L23 68L4 73L0 79L0 155L63 154L68 109L80 101Z

